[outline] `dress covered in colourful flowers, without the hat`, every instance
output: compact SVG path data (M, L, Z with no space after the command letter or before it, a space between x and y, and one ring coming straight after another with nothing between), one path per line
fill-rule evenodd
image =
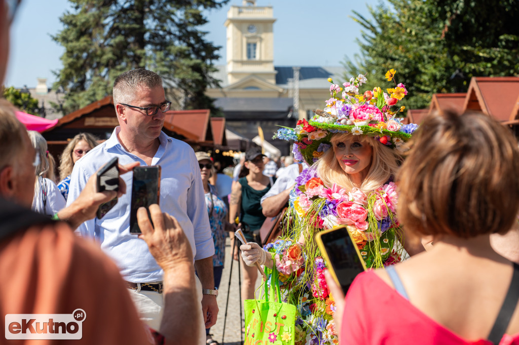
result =
M313 237L321 229L346 225L367 267L399 262L401 249L393 249L399 231L395 184L388 182L367 195L357 188L346 192L337 184L326 186L316 170L308 168L297 177L290 204L289 233L264 248L275 260L284 300L297 306L295 343L335 344L335 303L324 279L326 263ZM301 238L304 245L298 242Z

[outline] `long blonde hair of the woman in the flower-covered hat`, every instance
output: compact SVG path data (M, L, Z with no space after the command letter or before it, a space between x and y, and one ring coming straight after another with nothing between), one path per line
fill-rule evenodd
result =
M315 163L315 168L324 184L331 186L333 183L337 183L347 191L354 187L350 176L344 172L339 162L337 162L334 151L338 142L351 140L352 138L353 135L349 133L333 135L330 140L332 148L326 151L321 159ZM374 137L357 136L355 139L361 143L367 143L373 148L370 170L360 186L360 190L368 193L384 185L396 174L402 162L402 156L397 151L380 143Z

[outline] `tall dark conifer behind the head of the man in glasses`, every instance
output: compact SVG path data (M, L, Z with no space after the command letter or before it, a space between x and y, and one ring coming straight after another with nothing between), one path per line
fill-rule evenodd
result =
M217 86L211 77L218 49L200 31L202 11L228 0L69 0L73 10L60 18L52 38L65 48L54 88L67 90L64 108L73 111L112 93L115 77L133 68L158 73L176 107L211 109L205 95Z

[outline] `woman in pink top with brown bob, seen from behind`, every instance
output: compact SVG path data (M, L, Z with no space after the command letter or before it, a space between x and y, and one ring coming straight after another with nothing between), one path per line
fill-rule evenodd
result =
M489 239L517 222L517 142L476 112L429 116L412 142L397 176L398 217L408 231L432 236L432 247L357 276L340 343L519 344L519 265Z

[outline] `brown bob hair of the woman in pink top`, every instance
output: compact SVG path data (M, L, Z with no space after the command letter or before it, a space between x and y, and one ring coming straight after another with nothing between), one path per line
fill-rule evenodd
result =
M437 112L415 132L397 176L398 218L425 235L506 233L519 208L519 150L479 112Z

